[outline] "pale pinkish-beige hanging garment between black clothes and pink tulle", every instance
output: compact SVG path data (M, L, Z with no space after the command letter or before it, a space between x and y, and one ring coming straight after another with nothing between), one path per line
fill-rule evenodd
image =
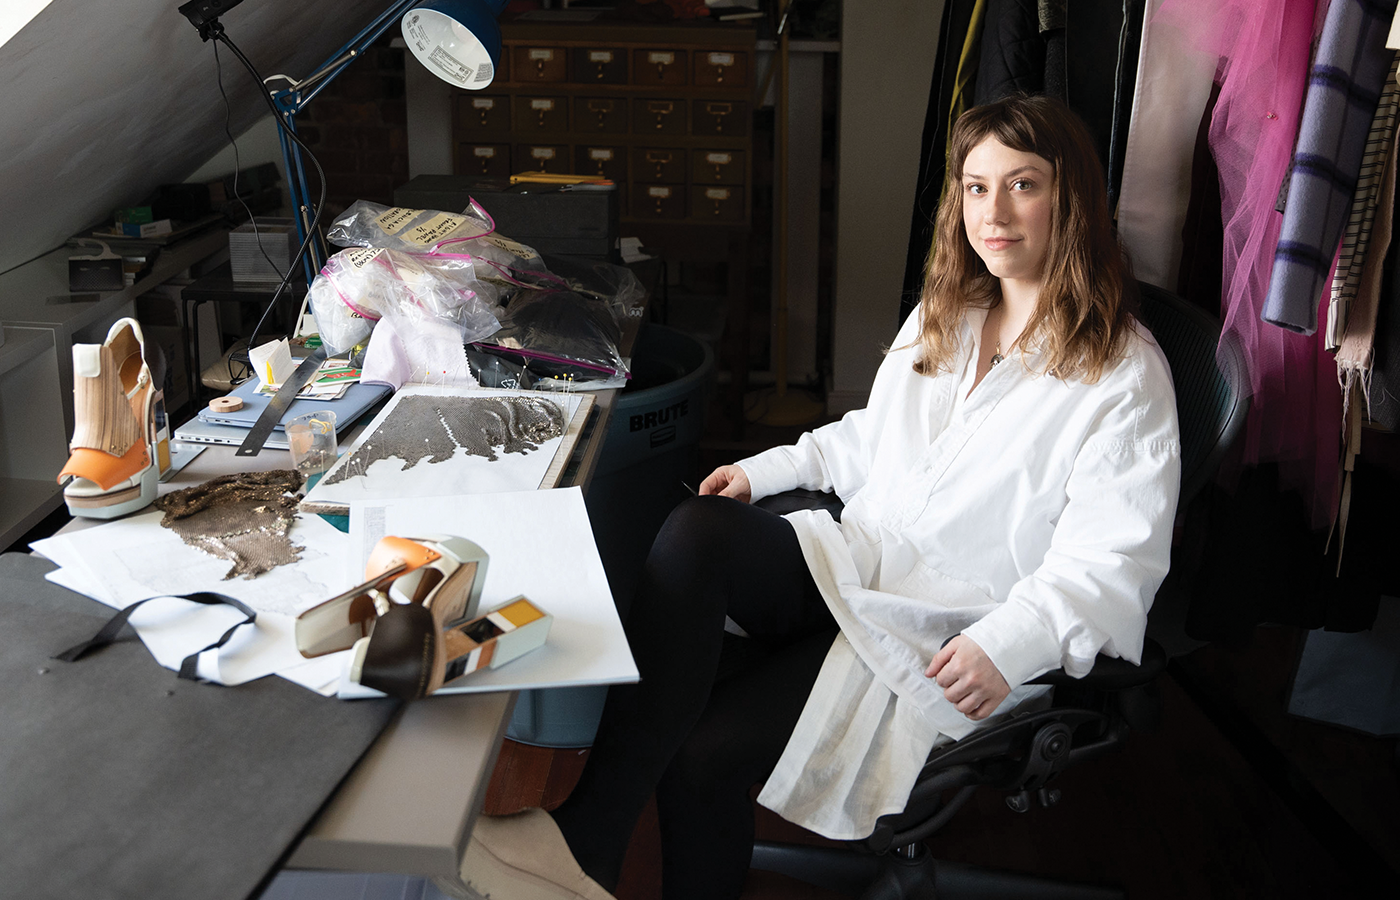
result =
M1151 0L1144 15L1117 217L1133 274L1175 293L1191 196L1191 154L1217 55L1198 49L1172 22L1158 21L1161 6L1162 0ZM1218 213L1217 206L1211 216Z

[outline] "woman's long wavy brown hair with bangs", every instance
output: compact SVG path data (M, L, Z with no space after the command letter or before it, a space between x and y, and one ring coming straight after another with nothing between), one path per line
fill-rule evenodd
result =
M1025 333L1044 351L1043 371L1092 384L1123 353L1137 286L1113 234L1089 132L1079 116L1050 97L1008 97L969 109L953 125L948 181L924 266L923 354L914 371L934 375L951 370L966 308L991 308L1001 301L1001 283L987 272L963 227L963 162L988 137L1053 167L1050 245Z

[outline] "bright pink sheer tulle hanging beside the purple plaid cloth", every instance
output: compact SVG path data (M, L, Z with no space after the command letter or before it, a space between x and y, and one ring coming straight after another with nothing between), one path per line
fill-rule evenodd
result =
M1323 349L1324 329L1303 336L1260 319L1319 4L1326 0L1165 0L1154 25L1179 28L1219 56L1210 147L1225 228L1221 340L1240 350L1252 395L1242 462L1280 463L1282 486L1303 495L1315 528L1326 528L1337 502L1337 367Z

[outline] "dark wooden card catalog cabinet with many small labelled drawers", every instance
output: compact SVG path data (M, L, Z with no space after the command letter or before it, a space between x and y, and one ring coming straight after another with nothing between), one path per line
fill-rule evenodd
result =
M501 36L490 94L454 94L459 174L602 175L624 223L749 223L750 27L507 15Z

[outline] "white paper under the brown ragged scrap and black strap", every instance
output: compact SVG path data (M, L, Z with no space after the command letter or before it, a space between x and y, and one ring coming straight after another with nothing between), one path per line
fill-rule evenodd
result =
M349 588L344 575L347 537L319 516L298 516L291 539L305 547L294 565L256 578L223 581L231 563L190 547L161 528L161 512L146 512L35 542L34 550L63 568L49 579L115 609L161 596L132 614L132 627L168 669L206 647L244 614L231 606L204 606L174 596L195 591L227 593L258 612L217 654L200 658L202 677L241 684L300 666L293 621L297 613ZM217 659L216 659L217 656ZM298 682L300 683L300 682Z

